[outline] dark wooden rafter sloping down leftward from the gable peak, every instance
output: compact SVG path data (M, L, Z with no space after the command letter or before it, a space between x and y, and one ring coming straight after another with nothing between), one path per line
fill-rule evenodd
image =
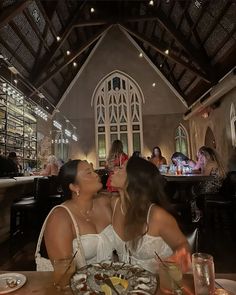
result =
M52 72L48 73L43 80L35 83L35 86L37 88L41 88L43 85L45 85L45 83L51 80L58 72L62 71L66 66L72 63L78 56L80 56L87 48L89 48L95 41L97 41L97 39L99 39L109 28L110 26L106 26L102 30L99 30L99 32L93 35L88 41L85 42L85 44L80 46L76 50L76 52L70 56L68 60L66 60L63 64L58 65Z

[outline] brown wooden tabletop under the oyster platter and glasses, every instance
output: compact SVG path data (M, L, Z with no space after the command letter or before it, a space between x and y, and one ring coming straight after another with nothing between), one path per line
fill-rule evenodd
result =
M3 272L0 272L3 273ZM52 272L20 271L27 277L26 284L12 295L72 295L71 291L59 292L53 287ZM217 274L217 278L224 278L236 281L236 274ZM193 277L190 274L184 275L183 280L186 295L194 295ZM78 293L79 294L79 293ZM157 295L162 294L159 290Z

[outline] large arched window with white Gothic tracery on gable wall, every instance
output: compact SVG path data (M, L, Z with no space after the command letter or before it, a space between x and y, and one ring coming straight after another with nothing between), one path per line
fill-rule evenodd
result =
M120 139L124 152L142 151L142 92L121 72L105 77L94 91L97 161L104 166L110 146Z

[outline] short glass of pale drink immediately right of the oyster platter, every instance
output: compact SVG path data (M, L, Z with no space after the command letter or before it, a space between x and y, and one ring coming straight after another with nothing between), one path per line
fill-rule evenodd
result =
M165 294L182 294L181 267L176 262L163 261L159 263L160 289Z

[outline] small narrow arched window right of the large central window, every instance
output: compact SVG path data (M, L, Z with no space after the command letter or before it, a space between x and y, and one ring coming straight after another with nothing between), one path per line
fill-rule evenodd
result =
M175 130L175 150L189 156L189 140L187 130L180 124Z

